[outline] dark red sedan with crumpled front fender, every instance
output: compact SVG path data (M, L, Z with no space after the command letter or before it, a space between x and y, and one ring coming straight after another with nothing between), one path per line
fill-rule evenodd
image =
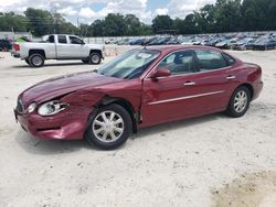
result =
M205 46L132 50L98 70L39 83L18 97L38 138L121 145L137 129L219 111L237 118L263 88L258 65Z

